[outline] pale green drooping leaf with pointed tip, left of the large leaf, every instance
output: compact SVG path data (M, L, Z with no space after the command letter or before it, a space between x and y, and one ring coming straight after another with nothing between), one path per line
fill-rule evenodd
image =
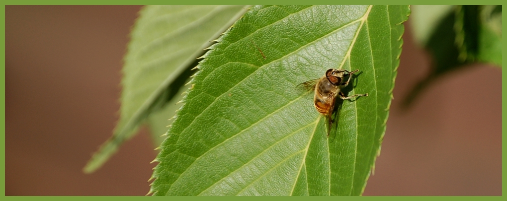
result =
M144 7L125 55L120 120L84 172L102 166L151 113L164 109L191 74L196 57L244 12L243 6Z

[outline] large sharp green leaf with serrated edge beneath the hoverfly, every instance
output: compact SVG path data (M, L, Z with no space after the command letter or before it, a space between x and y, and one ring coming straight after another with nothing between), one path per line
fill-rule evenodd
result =
M256 6L210 47L155 159L154 195L360 195L379 154L408 6ZM327 138L313 94L359 69Z

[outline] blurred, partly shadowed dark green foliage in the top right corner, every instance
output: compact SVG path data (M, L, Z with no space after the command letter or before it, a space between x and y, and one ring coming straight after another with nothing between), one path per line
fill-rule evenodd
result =
M448 72L474 62L501 66L501 6L417 5L412 10L416 40L428 50L433 62L428 75L405 98L405 107Z

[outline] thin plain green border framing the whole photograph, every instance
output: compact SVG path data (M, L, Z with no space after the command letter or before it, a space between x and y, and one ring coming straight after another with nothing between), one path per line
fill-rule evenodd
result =
M45 1L45 2L38 2L38 1L6 1L4 4L4 6L2 7L1 9L1 17L2 17L2 31L1 31L1 34L2 34L2 40L1 40L1 46L3 46L2 48L2 52L3 52L3 56L1 57L2 59L2 71L0 72L1 73L1 78L2 78L2 82L1 82L1 89L2 90L2 106L0 106L0 110L2 112L2 116L0 118L2 118L2 122L0 123L1 124L1 127L2 127L2 138L0 139L1 140L1 143L2 143L2 147L3 149L1 150L2 151L2 170L3 170L3 174L1 175L2 177L2 183L0 185L2 185L2 189L0 189L2 191L2 193L4 194L5 196L5 128L6 128L6 124L5 124L5 10L6 10L6 5L164 5L164 4L168 4L168 3L174 3L174 4L178 4L178 2L168 2L168 1L155 1L155 0L152 0L152 1L124 1L124 2L112 2L112 1L75 1L75 2L63 2L63 1ZM238 1L225 1L225 0L222 0L222 1L213 1L213 2L208 2L208 1L203 1L203 0L197 0L197 1L194 1L194 0L190 0L190 1L185 1L185 2L179 2L179 3L184 3L186 5L192 5L192 4L221 4L221 5L228 5L228 4L238 4L238 3L245 3L245 2L238 2ZM317 1L255 1L255 2L246 2L246 3L250 3L250 4L253 4L253 3L257 3L257 4L273 4L273 3L281 3L281 4L305 4L305 3L313 3L313 4L339 4L339 3L354 3L354 4L368 4L368 3L373 3L373 4L379 4L379 3L384 3L384 4L406 4L406 3L412 3L412 4L442 4L443 2L441 1L411 1L411 2L405 2L405 1L382 1L382 2L376 2L376 1L363 1L363 0L356 0L356 1L353 1L353 2L339 2L339 1L320 1L320 0L317 0ZM446 1L447 4L482 4L482 5L501 5L501 2L500 1ZM502 16L502 21L505 20L505 17ZM503 25L502 25L502 29L503 29ZM502 37L503 37L503 33L502 33ZM505 53L504 53L504 50L505 50L505 45L503 44L502 42L502 57L505 56ZM502 66L503 66L503 62L502 62ZM504 101L503 98L505 97L504 96L504 92L505 92L505 89L507 89L507 83L504 82L503 80L503 76L507 75L507 72L504 72L502 70L502 125L506 124L507 125L507 120L504 120L503 117L504 117L504 113L506 111L505 109L505 106L507 106L505 103L507 101ZM503 128L502 126L502 145L503 145L503 142L505 141L505 138L503 138L503 134L505 133L505 128ZM502 172L504 170L503 168L503 161L504 161L504 158L505 158L505 149L503 148L502 146ZM502 195L503 193L505 192L504 189L505 187L503 186L503 181L504 181L504 176L502 174ZM460 199L460 200L477 200L478 198L487 198L487 199L492 199L492 200L500 200L502 196L479 196L479 197L476 197L476 196L473 196L473 197L468 197L468 196L452 196L452 197L442 197L442 196L437 196L437 197L421 197L421 196L410 196L410 197L406 197L406 196L387 196L387 197L381 197L381 199L397 199L397 200L405 200L407 198L410 198L410 199L448 199L448 198L451 198L451 199ZM7 199L9 200L24 200L24 199L40 199L41 197L40 196L8 196L6 197ZM46 198L46 197L44 197ZM84 197L84 196L72 196L72 197L69 197L69 196L49 196L48 199L60 199L60 200L66 200L68 198L72 198L72 199L90 199L90 198L97 198L97 199L110 199L109 197L105 197L105 196L90 196L90 197ZM133 197L125 197L125 196L118 196L118 197L114 197L115 199L118 198L118 199L139 199L139 197L136 197L136 196L133 196ZM291 197L291 198L285 198L285 197L263 197L262 199L272 199L272 200L275 200L275 199L292 199L292 200L303 200L303 199L308 199L308 198L302 198L302 197ZM374 197L374 198L363 198L361 197L361 199L378 199L380 197ZM143 199L143 198L140 198L140 199ZM185 199L185 200L213 200L213 199L220 199L220 200L224 200L224 199L237 199L237 197L177 197L176 199ZM245 200L249 200L249 199L258 199L258 198L252 198L252 197L245 197L245 198L241 198L241 199L245 199ZM336 199L335 197L319 197L318 199L320 200L326 200L326 199ZM350 197L350 198L347 198L347 199L357 199L355 197Z

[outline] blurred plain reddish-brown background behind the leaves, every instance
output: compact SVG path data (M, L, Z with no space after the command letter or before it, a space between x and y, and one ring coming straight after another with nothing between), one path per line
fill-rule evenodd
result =
M6 195L144 195L147 129L104 167L82 168L118 118L122 57L140 6L6 6ZM408 22L410 25L410 21ZM407 26L382 152L364 195L501 195L501 70L439 79Z

